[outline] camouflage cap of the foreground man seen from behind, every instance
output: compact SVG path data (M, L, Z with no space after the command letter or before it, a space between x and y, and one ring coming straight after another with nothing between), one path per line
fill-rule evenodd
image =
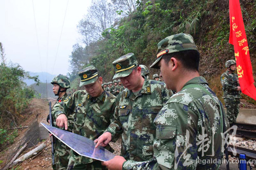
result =
M187 50L196 50L197 46L194 42L194 39L189 34L175 34L169 37L164 38L158 44L157 49L157 60L150 66L151 68L158 68L158 62L165 54L182 52Z

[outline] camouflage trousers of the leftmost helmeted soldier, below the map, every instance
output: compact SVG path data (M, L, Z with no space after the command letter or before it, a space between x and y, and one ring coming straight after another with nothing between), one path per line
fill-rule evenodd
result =
M55 167L53 165L53 169L67 169L69 163L68 157L70 148L67 147L66 144L56 139L56 142L54 143L54 149Z

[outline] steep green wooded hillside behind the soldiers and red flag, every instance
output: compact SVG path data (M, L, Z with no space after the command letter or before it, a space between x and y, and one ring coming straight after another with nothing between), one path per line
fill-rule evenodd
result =
M104 1L104 0L98 0ZM112 1L117 3L117 1ZM256 2L240 0L250 57L256 71ZM122 55L134 53L139 63L150 66L156 57L157 43L172 34L188 33L194 37L201 54L200 74L215 88L219 98L222 96L220 75L225 71L225 62L234 59L233 46L229 40L229 4L223 0L155 0L136 1L136 9L127 12L118 9L117 22L101 32L100 37L91 37L88 25L79 23L78 28L84 39L85 60L79 66L71 66L71 76L77 76L75 68L93 64L99 69L103 81L111 81L114 76L112 62ZM122 12L123 11L123 12ZM90 11L89 11L90 12ZM125 14L126 15L122 15ZM90 29L89 29L90 30ZM96 39L96 40L95 40ZM76 46L77 47L77 46ZM78 48L77 48L78 49ZM76 48L74 48L76 51ZM81 48L79 48L81 51ZM72 53L74 60L78 53ZM75 61L75 60L74 60ZM254 64L254 65L253 65ZM159 70L150 68L150 77ZM214 78L214 79L213 79ZM255 75L254 75L255 78ZM253 100L252 100L253 101ZM254 102L254 104L256 104Z

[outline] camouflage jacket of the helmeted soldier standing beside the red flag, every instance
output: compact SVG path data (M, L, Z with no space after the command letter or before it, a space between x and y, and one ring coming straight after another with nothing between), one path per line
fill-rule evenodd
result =
M239 85L238 75L227 70L221 75L223 98L241 98L241 91L237 91Z

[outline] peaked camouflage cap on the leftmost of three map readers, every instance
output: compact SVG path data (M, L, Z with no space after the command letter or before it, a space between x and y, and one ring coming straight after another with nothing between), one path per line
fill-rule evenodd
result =
M80 87L88 84L95 83L98 79L98 70L95 66L90 65L86 68L83 68L78 72L78 76L80 77Z

